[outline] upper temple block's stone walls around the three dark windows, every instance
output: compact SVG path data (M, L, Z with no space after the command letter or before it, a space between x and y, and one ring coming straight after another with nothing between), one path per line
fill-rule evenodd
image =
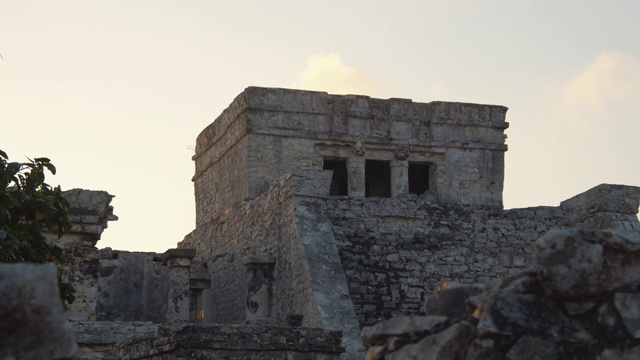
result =
M264 192L286 171L321 170L324 158L392 166L427 162L442 203L502 207L506 108L247 88L196 144L197 225ZM353 154L356 143L365 154ZM396 159L399 148L408 155ZM408 156L408 157L407 157Z

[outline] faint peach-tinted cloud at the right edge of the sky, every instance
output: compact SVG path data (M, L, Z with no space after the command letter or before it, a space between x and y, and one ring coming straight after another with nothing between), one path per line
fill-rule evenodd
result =
M565 85L570 107L603 110L630 101L640 92L640 63L616 51L603 51Z

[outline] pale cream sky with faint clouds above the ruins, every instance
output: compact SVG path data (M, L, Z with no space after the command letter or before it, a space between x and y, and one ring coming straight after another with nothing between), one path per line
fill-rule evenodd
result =
M195 226L196 136L248 86L509 107L505 208L640 185L640 1L0 0L0 149L106 190L98 247Z

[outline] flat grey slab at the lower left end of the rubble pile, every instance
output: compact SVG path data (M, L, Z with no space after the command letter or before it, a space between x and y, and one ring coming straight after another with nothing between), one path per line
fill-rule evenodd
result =
M365 327L360 337L369 345L386 344L392 337L408 343L436 333L448 324L449 318L446 316L399 316Z

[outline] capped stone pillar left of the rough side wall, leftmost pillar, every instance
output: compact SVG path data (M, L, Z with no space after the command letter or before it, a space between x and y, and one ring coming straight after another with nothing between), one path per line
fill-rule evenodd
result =
M189 268L195 256L195 249L169 249L162 255L162 262L169 267L168 323L190 320Z

